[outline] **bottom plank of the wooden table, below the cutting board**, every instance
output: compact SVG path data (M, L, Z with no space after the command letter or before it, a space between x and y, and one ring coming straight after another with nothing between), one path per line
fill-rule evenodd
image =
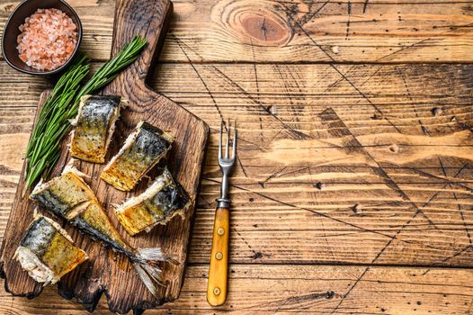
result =
M145 314L469 314L473 310L470 269L365 266L230 267L228 302L205 300L207 266L189 266L179 300ZM345 293L354 285L351 293ZM51 302L54 305L51 306ZM84 314L74 301L48 287L34 300L0 293L7 314ZM105 298L94 314L110 314Z

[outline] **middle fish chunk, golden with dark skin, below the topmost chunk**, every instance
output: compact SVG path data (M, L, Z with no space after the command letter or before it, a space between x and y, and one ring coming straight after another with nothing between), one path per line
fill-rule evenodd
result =
M171 133L140 121L120 152L104 167L101 178L115 188L128 192L165 157L173 142Z

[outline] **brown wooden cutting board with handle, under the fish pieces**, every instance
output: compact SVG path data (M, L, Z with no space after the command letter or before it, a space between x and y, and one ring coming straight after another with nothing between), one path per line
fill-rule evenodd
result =
M165 38L165 26L172 15L172 4L168 0L122 0L118 1L115 12L112 56L129 42L135 34L144 36L148 45L138 60L108 85L103 94L119 94L129 100L129 108L122 112L107 160L118 152L126 136L134 129L138 121L148 121L163 130L171 130L175 144L168 156L172 173L192 197L192 207L185 219L179 217L171 220L165 227L158 226L148 234L129 237L120 227L112 213L111 203L120 203L125 198L143 192L150 179L144 179L131 193L123 193L100 180L103 165L80 161L78 168L90 175L94 192L108 209L109 217L118 227L121 235L133 247L161 246L165 253L181 262L180 266L166 264L163 270L165 287L161 287L159 299L148 293L139 281L129 260L112 250L103 247L99 242L78 232L75 228L63 223L67 231L76 240L77 245L87 252L90 261L66 275L58 284L59 293L67 299L75 297L93 311L102 293L106 293L110 310L124 313L130 310L141 311L164 302L173 301L179 296L183 284L183 273L187 258L187 247L192 228L192 214L200 184L201 166L204 161L205 146L209 127L191 112L177 105L161 94L150 90L146 85L147 73ZM40 107L45 99L41 95ZM69 160L67 143L61 144L62 155L54 169L58 175ZM18 157L21 158L21 157ZM24 173L23 166L23 172ZM13 202L12 212L4 235L4 244L0 264L5 277L5 289L9 293L29 298L40 294L42 287L31 280L22 271L20 265L13 261L13 252L19 244L24 231L32 220L35 204L27 197L22 197L24 174ZM49 215L47 213L47 215ZM49 215L50 216L50 215Z

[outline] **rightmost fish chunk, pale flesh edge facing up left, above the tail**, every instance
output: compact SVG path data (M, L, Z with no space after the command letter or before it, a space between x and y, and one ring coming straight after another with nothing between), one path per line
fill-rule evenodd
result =
M175 215L184 215L190 205L189 195L165 168L144 193L129 199L115 209L115 216L130 235L157 224L165 225Z

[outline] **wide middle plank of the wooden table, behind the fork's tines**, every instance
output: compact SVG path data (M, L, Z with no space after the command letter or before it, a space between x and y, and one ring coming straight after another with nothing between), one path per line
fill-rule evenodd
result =
M471 65L338 66L380 112L328 65L257 65L258 80L254 65L193 67L159 65L150 80L210 124L190 262L209 262L221 114L241 127L230 263L471 266ZM5 86L36 86L4 74ZM8 91L0 137L14 151L3 157L3 217L32 121L31 107L14 118Z

